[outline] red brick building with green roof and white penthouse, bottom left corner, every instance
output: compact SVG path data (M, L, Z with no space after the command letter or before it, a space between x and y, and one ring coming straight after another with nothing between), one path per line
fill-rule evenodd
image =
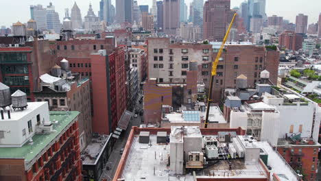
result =
M11 117L5 114L0 180L82 180L78 114L49 112L47 102L30 102Z

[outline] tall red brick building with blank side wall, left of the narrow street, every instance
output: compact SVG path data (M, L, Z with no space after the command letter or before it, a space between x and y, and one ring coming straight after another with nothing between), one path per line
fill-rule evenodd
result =
M126 111L125 51L91 54L93 132L110 134Z

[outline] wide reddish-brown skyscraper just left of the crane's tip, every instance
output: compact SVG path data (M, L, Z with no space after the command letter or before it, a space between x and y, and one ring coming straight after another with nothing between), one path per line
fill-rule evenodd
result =
M230 0L209 0L204 4L203 38L222 41L230 16Z

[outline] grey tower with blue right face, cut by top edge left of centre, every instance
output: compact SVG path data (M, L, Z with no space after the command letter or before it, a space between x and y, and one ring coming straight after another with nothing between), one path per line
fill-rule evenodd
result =
M132 0L117 0L116 1L116 21L118 23L132 23Z

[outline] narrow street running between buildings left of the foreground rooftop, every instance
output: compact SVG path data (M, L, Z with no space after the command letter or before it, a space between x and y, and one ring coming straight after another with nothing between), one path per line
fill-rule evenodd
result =
M141 109L142 104L139 104L139 99L137 100L137 104L139 105L139 109ZM115 145L114 145L114 149L112 150L112 153L110 154L108 163L106 165L106 168L104 169L102 176L100 176L99 180L112 180L112 178L115 175L115 172L117 170L119 161L121 159L121 148L124 148L126 145L126 142L128 140L128 136L130 134L130 130L132 130L132 126L138 126L141 124L142 121L142 117L139 114L137 114L138 117L134 118L132 117L132 119L130 120L130 123L128 125L128 128L126 130L126 132L122 132L121 136L119 137L119 139L116 141ZM110 168L110 169L108 169Z

